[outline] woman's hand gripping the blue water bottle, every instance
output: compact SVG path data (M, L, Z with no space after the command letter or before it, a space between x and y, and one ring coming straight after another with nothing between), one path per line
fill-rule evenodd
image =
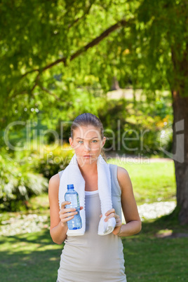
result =
M71 202L65 201L62 202L61 208L60 208L60 220L62 227L65 227L67 225L67 221L72 220L74 215L77 214L76 208L65 208L66 205L69 205ZM80 210L82 210L83 207L80 207Z

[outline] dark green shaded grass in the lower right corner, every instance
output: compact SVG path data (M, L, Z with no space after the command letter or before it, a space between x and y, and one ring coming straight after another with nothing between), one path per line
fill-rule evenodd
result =
M123 239L128 281L187 281L187 239Z

